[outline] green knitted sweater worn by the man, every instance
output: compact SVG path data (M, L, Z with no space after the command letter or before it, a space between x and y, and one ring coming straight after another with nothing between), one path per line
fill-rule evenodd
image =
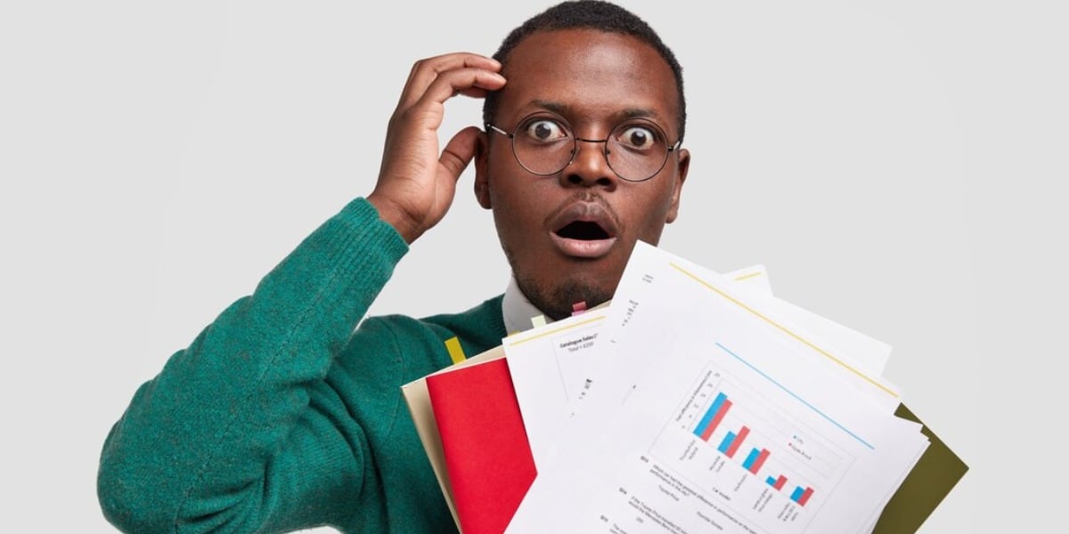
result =
M400 386L505 336L501 297L369 317L407 251L357 199L141 386L97 493L126 532L455 532Z

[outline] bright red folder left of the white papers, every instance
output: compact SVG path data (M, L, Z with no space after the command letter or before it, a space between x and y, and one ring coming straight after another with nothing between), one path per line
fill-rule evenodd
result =
M505 358L427 377L464 534L500 534L531 483L534 458Z

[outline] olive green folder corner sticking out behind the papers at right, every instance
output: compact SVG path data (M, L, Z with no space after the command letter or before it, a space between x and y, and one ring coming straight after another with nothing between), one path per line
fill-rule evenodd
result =
M898 405L895 415L924 424L905 405ZM883 508L873 534L912 534L920 529L932 511L943 502L969 466L939 439L928 425L920 431L930 443L910 474L905 475L890 501Z

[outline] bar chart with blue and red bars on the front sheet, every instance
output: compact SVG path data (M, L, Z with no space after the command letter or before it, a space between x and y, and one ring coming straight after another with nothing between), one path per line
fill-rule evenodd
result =
M806 509L819 506L852 461L712 366L685 391L650 453L679 473L701 473L688 482L773 531L777 523L805 522Z

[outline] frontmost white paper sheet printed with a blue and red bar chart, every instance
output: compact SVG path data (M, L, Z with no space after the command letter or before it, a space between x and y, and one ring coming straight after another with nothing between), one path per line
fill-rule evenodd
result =
M558 428L552 461L539 466L508 532L871 527L927 446L880 400L897 406L894 390L697 270L636 247L605 339L589 347L611 354L597 376L613 387L599 384ZM734 407L713 427L718 397ZM729 431L740 449L725 444ZM794 493L805 488L803 504Z

